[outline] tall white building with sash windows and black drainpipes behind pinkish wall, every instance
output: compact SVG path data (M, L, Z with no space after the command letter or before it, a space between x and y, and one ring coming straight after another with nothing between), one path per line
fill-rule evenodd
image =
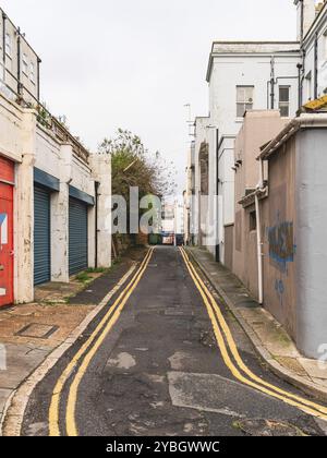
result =
M202 232L213 227L215 238L205 243L225 262L225 234L234 224L234 140L244 112L279 109L286 118L299 109L300 45L296 41L215 41L209 57L209 117L196 122L196 190L198 157L208 145L208 203L199 208ZM197 138L199 136L199 138ZM202 179L202 181L204 181ZM218 198L215 196L218 194ZM203 204L205 205L205 204ZM205 215L205 216L204 216ZM206 219L206 221L204 220Z

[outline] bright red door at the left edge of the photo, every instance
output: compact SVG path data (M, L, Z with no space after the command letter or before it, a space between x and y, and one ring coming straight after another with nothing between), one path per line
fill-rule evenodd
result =
M0 306L13 303L14 164L0 157Z

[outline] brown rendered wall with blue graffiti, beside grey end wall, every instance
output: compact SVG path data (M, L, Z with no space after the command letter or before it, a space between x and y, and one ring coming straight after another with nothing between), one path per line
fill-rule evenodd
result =
M269 159L269 197L262 201L264 305L296 339L295 138Z

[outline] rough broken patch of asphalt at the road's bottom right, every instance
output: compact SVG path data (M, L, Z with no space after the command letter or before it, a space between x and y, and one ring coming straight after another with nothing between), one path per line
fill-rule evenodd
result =
M237 426L251 436L304 436L299 427L276 420L244 420Z

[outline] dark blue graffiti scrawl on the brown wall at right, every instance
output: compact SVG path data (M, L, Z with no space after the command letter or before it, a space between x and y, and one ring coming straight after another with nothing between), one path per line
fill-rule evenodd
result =
M282 221L268 229L269 256L279 270L286 273L288 263L294 262L294 226L292 221Z

